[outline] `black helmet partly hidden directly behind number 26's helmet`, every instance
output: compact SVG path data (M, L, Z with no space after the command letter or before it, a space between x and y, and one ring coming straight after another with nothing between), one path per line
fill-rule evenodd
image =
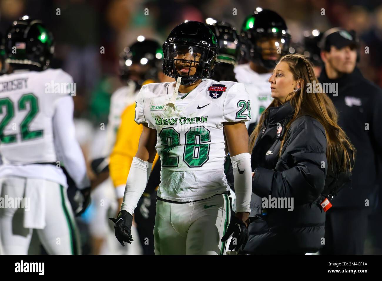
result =
M219 46L216 61L235 64L240 56L240 43L236 27L225 21L219 21L209 27L214 31Z

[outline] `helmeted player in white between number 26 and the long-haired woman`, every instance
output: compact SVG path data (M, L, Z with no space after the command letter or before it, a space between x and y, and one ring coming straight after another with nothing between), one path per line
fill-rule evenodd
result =
M280 15L271 10L256 10L244 19L241 41L249 63L237 65L235 73L251 101L252 120L246 122L250 134L273 100L268 79L278 60L289 51L290 34Z

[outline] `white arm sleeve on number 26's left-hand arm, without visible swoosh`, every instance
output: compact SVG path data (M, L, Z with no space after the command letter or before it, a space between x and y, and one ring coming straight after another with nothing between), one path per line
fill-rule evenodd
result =
M146 188L147 181L149 180L151 167L152 163L133 157L129 175L127 176L121 210L125 210L129 214L133 215L139 198L141 198Z

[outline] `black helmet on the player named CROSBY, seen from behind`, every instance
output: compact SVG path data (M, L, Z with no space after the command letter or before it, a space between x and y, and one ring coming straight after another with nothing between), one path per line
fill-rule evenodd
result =
M54 53L53 35L39 19L23 18L13 21L6 34L6 63L16 69L44 70Z

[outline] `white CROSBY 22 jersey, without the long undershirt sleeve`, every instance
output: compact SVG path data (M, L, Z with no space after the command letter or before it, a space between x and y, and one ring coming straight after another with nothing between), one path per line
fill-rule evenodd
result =
M55 103L68 93L62 94L61 86L55 91L54 84L72 82L60 69L0 76L0 151L4 162L24 165L57 161L52 117Z

